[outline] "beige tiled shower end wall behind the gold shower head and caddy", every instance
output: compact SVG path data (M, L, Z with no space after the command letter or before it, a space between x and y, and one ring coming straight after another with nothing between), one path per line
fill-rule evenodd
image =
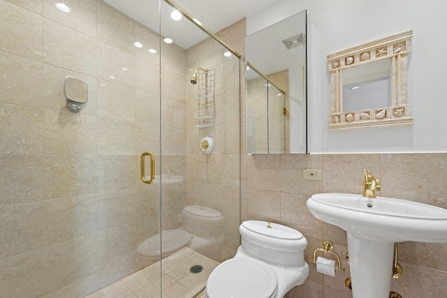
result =
M197 85L186 82L186 204L221 212L223 224L219 232L225 241L217 249L198 250L219 262L235 255L240 223L240 59L235 55L224 57L224 52L226 49L212 38L193 45L186 52L189 76L198 67L215 71L214 149L210 155L200 151L198 120L194 118L198 103L193 89Z

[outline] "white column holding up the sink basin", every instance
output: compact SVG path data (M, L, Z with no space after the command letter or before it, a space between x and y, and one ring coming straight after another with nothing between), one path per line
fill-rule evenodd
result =
M371 241L348 234L353 298L388 298L394 243Z

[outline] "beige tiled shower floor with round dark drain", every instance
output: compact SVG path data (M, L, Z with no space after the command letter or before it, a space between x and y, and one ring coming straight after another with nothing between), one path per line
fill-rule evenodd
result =
M203 266L203 271L191 273L189 269L194 265ZM185 247L85 298L192 298L205 288L208 276L217 265L219 262ZM163 296L160 296L160 285Z

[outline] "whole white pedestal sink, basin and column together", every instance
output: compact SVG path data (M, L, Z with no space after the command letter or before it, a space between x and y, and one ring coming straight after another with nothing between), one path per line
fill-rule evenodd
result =
M345 193L319 193L307 209L348 236L353 298L388 298L395 242L447 242L447 209Z

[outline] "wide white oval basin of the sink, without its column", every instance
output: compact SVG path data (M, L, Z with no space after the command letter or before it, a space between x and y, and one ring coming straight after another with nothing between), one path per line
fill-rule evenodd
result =
M318 193L307 200L307 208L319 220L369 240L447 242L447 209L429 204Z

